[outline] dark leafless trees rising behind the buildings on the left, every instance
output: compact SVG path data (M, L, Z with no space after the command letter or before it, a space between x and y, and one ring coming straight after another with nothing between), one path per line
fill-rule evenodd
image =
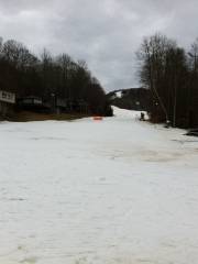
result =
M52 95L69 102L87 103L91 113L109 114L110 107L100 82L85 62L69 55L51 55L46 50L40 57L14 40L0 37L0 89L15 92L16 98L37 96L51 101Z

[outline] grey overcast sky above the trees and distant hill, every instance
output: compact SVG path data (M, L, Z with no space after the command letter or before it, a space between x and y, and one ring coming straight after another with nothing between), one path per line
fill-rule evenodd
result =
M139 86L135 52L156 32L190 46L198 0L0 0L0 36L85 59L106 90Z

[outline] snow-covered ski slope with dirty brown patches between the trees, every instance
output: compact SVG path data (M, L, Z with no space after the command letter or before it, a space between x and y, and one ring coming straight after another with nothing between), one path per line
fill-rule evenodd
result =
M116 114L0 123L0 264L198 263L198 139Z

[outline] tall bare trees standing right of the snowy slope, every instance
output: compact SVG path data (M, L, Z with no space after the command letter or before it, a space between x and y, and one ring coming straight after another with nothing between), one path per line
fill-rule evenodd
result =
M143 40L138 58L141 82L151 91L151 119L173 127L198 127L198 40L185 51L155 34Z

